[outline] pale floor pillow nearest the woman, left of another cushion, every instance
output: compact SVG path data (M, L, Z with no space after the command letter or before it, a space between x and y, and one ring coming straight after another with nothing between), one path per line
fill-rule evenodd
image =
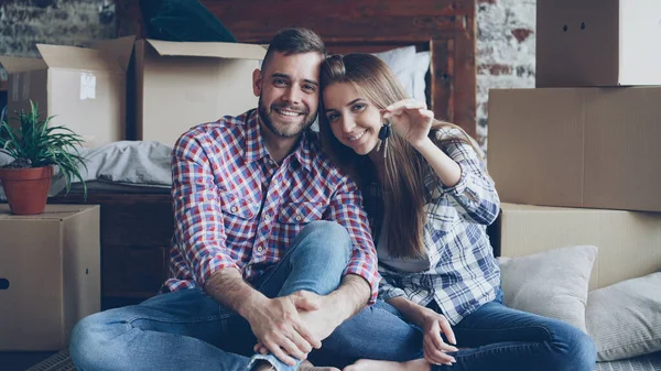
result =
M556 318L587 332L585 303L597 248L576 245L499 258L505 305Z

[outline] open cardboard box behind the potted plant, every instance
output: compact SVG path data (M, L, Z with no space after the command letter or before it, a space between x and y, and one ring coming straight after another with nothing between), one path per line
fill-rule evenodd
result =
M134 37L99 42L96 48L37 44L41 58L2 56L9 72L8 116L39 105L51 126L64 126L96 148L126 139L126 72ZM9 121L13 123L13 120Z

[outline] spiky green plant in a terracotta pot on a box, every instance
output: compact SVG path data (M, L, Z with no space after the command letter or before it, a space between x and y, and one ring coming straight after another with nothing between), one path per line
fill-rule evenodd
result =
M51 179L58 170L65 179L66 192L72 179L85 187L78 165L85 166L78 152L83 139L64 127L48 127L53 117L40 119L37 105L30 101L30 112L17 112L17 126L3 121L0 126L0 151L13 160L0 167L0 183L12 214L41 214L46 207ZM87 195L87 188L85 187Z

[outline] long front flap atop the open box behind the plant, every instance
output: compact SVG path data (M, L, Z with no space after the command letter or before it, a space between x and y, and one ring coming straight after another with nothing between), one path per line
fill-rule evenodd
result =
M44 62L52 68L124 73L113 57L91 48L36 44Z

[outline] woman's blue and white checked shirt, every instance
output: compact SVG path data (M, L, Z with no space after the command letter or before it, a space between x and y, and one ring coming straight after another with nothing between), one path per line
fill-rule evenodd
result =
M448 135L462 134L457 129L437 130L436 143ZM494 181L470 145L452 141L440 148L459 164L462 177L454 187L445 187L427 166L423 241L430 270L398 272L379 264L379 297L387 301L405 296L422 306L435 301L447 320L456 325L491 302L500 286L500 268L486 232L498 217L500 200Z

